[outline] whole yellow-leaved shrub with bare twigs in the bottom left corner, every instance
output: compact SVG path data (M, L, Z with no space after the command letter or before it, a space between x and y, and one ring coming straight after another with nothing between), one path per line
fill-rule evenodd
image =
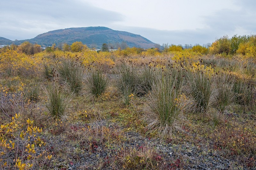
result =
M34 126L29 118L24 124L20 114L0 126L1 169L43 169L50 164L52 155L42 137L42 128Z

